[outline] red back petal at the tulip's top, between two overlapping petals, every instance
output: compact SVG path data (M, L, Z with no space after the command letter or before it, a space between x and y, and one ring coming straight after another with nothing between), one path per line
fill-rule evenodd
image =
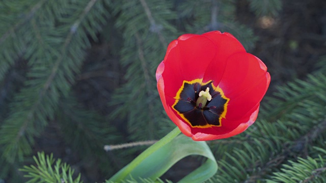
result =
M229 33L213 31L203 34L216 45L216 56L213 62L209 64L203 82L214 80L215 86L219 84L227 63L227 59L238 52L246 52L241 43Z

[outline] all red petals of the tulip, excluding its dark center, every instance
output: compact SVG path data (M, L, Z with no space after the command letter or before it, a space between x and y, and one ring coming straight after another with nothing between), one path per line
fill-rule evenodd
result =
M170 43L156 70L157 88L168 116L194 140L228 138L254 123L270 82L266 66L229 33L186 34ZM221 127L191 127L171 106L183 81L214 80L229 98Z

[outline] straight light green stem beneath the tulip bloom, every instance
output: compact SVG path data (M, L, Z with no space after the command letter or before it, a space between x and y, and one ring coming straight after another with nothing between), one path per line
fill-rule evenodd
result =
M143 160L145 160L148 156L150 156L152 153L154 153L157 149L161 148L162 146L169 143L171 140L173 140L176 136L178 136L181 133L180 129L176 127L173 129L170 133L168 133L165 137L161 138L159 141L154 143L152 146L148 147L142 154L140 154L137 158L135 158L132 162L130 162L127 166L125 166L123 169L121 169L119 172L117 172L115 175L113 175L109 181L118 181L125 179L126 176L130 174L130 172L137 167L140 163L142 163Z

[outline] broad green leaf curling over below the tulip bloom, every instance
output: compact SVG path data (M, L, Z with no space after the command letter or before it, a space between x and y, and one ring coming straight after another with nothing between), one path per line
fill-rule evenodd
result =
M121 174L124 174L124 170L129 165L121 169L109 181L120 182L130 178L130 176L133 178L140 177L156 180L175 163L189 155L204 156L207 158L207 161L179 182L203 182L218 170L218 164L205 141L193 141L191 138L181 134L154 151L138 166L134 167L128 176L122 177Z

